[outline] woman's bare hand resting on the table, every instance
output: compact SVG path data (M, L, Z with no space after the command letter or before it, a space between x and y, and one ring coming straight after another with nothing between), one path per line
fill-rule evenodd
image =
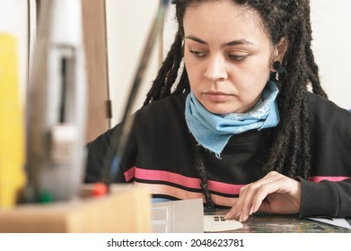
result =
M226 219L248 220L254 212L294 214L300 211L301 183L276 171L241 187L239 199Z

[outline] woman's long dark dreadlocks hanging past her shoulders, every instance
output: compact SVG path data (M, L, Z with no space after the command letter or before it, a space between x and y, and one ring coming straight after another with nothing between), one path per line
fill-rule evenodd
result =
M179 83L176 82L183 57L182 40L184 37L183 18L191 5L210 0L175 0L176 17L179 29L156 79L148 92L144 105L169 95L189 90L186 69L183 69ZM220 0L216 0L220 1ZM285 74L279 76L280 91L277 106L282 118L277 125L265 172L276 170L288 177L308 177L311 169L311 142L309 137L309 115L307 92L312 91L327 98L320 86L319 69L312 53L312 28L309 0L232 0L259 13L265 31L276 45L281 39L288 39L288 48L283 59ZM273 73L272 73L273 74ZM198 154L197 154L198 155ZM197 172L205 187L206 172L204 165ZM204 174L205 173L205 174ZM204 191L207 203L208 191Z

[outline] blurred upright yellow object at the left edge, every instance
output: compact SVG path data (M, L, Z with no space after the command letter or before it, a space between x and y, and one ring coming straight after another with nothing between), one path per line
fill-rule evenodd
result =
M0 208L12 207L25 184L24 116L16 39L0 33Z

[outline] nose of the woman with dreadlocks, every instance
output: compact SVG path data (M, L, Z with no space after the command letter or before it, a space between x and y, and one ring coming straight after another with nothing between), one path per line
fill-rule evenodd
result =
M204 77L210 81L224 81L227 78L223 56L211 56L208 58Z

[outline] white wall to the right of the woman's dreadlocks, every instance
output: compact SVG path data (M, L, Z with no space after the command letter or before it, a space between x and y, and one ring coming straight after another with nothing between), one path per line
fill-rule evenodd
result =
M351 1L312 0L313 49L323 87L338 106L351 109Z

